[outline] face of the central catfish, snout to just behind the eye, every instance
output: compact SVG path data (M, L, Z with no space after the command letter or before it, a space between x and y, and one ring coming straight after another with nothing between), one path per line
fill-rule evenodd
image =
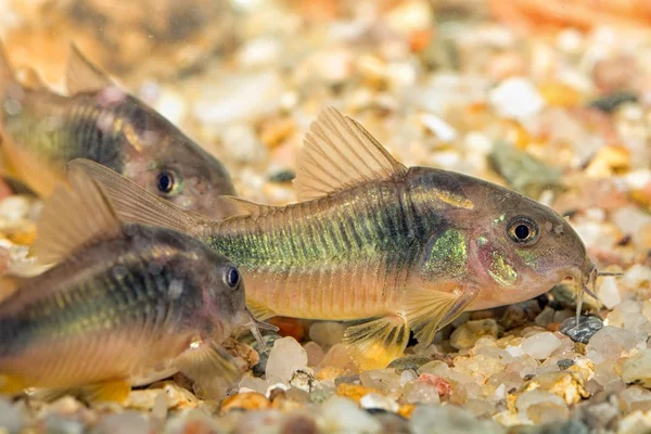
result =
M529 299L565 278L583 288L593 281L586 246L562 216L497 186L477 190L470 247L495 305Z

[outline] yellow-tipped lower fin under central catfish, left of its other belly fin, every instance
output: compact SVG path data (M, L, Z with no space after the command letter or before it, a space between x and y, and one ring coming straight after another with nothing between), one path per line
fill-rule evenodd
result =
M391 315L350 326L344 343L360 369L382 369L403 355L409 342L409 327L404 318Z

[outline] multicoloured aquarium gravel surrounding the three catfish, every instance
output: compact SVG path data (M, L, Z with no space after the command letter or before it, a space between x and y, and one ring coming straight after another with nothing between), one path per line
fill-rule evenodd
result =
M275 318L266 352L246 334L232 343L248 368L222 400L197 398L182 375L133 390L124 406L0 398L0 432L651 431L651 11L596 5L582 21L554 14L557 1L514 3L0 3L16 65L58 86L74 40L217 156L243 199L294 202L304 136L336 105L407 166L553 207L600 270L623 272L598 280L578 324L566 282L465 312L373 371L350 360L343 324ZM0 186L3 270L29 267L41 208L15 191Z

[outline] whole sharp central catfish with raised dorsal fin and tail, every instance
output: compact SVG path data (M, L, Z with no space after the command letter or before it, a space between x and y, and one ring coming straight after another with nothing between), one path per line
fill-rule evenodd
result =
M208 221L111 170L120 218L192 233L242 270L257 318L357 320L345 342L362 368L399 357L464 310L537 296L566 277L586 291L597 269L563 217L511 190L429 167L407 168L334 108L312 124L298 159L301 203L257 205ZM583 293L582 293L583 294Z

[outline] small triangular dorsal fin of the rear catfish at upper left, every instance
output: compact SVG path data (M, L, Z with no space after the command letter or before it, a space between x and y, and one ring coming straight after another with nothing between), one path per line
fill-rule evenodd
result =
M108 75L90 63L75 43L71 43L71 55L65 72L68 95L97 92L114 85Z

